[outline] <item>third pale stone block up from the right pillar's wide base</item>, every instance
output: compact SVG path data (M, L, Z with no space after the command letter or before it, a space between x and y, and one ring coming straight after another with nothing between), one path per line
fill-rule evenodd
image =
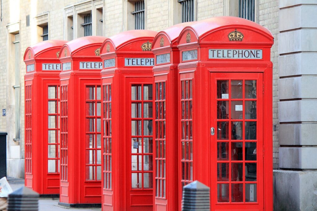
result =
M278 102L280 122L317 122L317 100L292 100Z

